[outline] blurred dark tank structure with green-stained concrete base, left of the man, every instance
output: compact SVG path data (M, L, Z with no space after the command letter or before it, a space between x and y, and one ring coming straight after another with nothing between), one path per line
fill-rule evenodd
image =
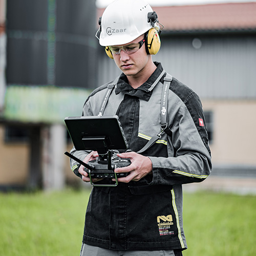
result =
M67 173L73 177L63 155L71 147L63 120L81 115L96 87L95 1L0 3L7 37L1 51L0 187L58 189Z

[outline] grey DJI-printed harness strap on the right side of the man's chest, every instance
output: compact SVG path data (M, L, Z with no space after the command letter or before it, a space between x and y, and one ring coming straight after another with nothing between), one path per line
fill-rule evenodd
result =
M141 150L137 151L137 153L142 153L146 151L148 148L150 148L157 140L159 140L162 137L162 134L165 132L167 135L170 135L172 132L170 131L168 127L167 122L167 110L168 110L168 93L169 93L169 87L170 82L172 82L173 77L169 74L166 74L164 77L164 83L163 83L163 89L162 89L162 95L161 95L161 132L159 134L154 135L146 144L144 147L141 148Z

